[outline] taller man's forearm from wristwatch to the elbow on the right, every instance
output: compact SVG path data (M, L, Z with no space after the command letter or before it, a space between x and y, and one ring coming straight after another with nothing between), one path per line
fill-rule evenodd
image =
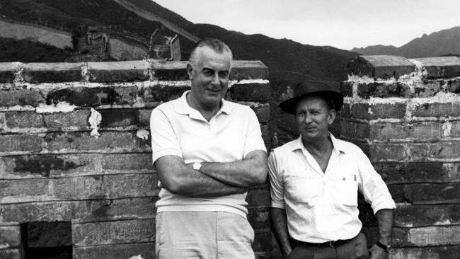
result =
M231 186L249 188L262 184L267 178L267 154L253 151L241 161L227 163L202 163L200 172Z

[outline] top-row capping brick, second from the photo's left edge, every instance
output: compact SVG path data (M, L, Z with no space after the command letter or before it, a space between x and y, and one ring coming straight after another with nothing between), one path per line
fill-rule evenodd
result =
M23 79L30 83L81 81L84 63L28 63Z

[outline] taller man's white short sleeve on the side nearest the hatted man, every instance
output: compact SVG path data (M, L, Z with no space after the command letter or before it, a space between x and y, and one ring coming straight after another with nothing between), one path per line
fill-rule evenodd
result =
M246 129L246 139L243 148L243 157L246 157L251 151L263 150L267 151L262 139L259 121L251 108L248 109L248 124Z

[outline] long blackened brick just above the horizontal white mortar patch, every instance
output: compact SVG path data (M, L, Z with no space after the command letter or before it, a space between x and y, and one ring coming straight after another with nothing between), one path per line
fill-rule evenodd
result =
M47 103L65 101L73 105L86 107L96 105L125 105L133 104L136 100L135 86L113 87L69 87L56 89L47 94Z

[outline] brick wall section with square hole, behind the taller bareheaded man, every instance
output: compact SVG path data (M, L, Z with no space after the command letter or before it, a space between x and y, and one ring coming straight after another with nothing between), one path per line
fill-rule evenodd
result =
M235 61L227 98L255 110L269 144L267 78L261 62ZM149 115L189 84L185 62L1 63L0 258L22 258L35 221L70 221L73 258L154 258ZM248 194L258 258L272 252L269 196Z

